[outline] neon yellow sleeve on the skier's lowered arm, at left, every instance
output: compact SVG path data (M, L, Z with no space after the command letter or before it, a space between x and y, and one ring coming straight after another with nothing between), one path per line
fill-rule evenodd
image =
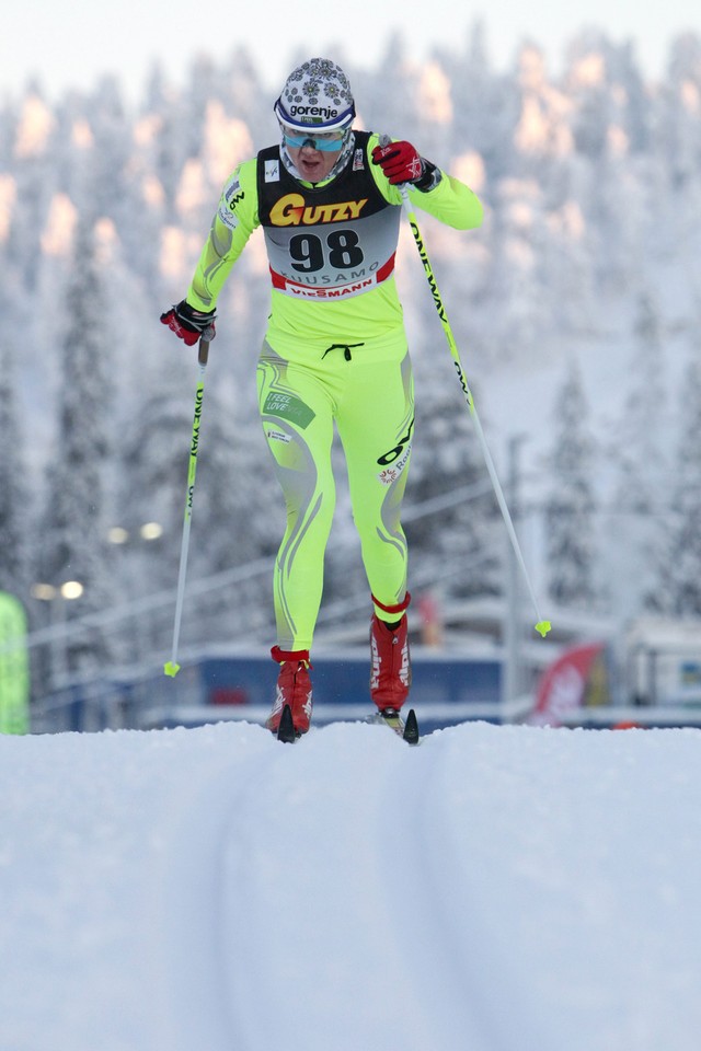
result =
M199 262L185 297L195 310L214 310L231 267L260 226L257 160L244 161L225 183Z

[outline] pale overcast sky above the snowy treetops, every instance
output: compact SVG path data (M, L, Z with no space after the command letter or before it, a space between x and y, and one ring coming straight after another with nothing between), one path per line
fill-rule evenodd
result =
M32 77L49 97L69 88L94 85L104 73L119 77L137 99L157 60L180 83L192 59L220 60L238 45L250 48L272 89L281 86L299 49L337 57L334 44L355 63L374 66L389 35L401 31L410 57L425 58L433 46L462 49L469 27L482 19L489 50L507 67L524 37L543 48L556 72L564 49L584 26L604 30L614 43L631 39L643 72L663 74L671 39L687 30L701 33L699 0L355 0L337 5L255 0L245 5L205 0L30 0L3 15L0 38L0 96L18 96ZM391 83L391 70L388 70Z

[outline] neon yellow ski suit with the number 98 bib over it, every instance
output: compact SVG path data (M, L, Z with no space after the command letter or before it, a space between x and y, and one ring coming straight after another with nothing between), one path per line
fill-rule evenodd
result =
M253 230L263 227L273 280L258 365L261 418L287 506L274 571L277 643L311 647L335 504L334 424L343 443L355 524L370 591L382 607L406 592L401 505L414 420L411 361L394 282L401 194L372 164L379 136L354 132L343 171L311 186L272 147L240 164L187 292L212 310ZM458 230L480 226L482 206L441 173L412 204Z

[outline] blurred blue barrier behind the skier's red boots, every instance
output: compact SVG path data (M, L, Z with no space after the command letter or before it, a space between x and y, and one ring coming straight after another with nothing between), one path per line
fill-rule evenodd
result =
M367 651L313 660L314 723L361 718L372 709ZM33 729L100 730L194 726L219 719L264 721L277 666L267 654L202 656L174 679L162 670L69 683L35 706ZM432 728L466 718L502 720L498 660L414 655L411 704Z

